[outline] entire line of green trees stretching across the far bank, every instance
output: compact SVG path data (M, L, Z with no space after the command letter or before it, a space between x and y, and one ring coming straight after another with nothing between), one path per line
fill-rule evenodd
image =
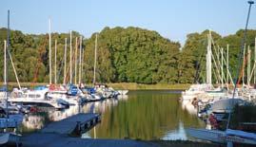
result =
M170 41L156 31L132 27L104 28L98 34L96 82L194 83L199 69L198 81L204 82L206 77L207 33L208 30L202 33L188 34L185 46L181 47L180 43ZM244 35L243 30L238 30L235 34L226 37L222 37L214 31L211 34L216 45L223 46L225 51L226 45L229 45L229 70L233 75L238 64L238 52ZM252 48L255 46L256 30L248 30L247 34L246 46L249 45ZM79 40L80 35L75 31L72 33L73 56L76 47L75 40L76 37ZM65 38L68 39L68 70L69 33L51 34L52 64L54 64L55 40L57 41L58 83L62 83L64 78ZM93 79L95 38L96 33L92 34L90 38L83 38L82 42L84 48L82 79L84 83L92 83ZM0 28L0 54L2 56L4 55L4 40L6 39L7 29ZM21 82L49 82L49 34L24 34L19 30L11 30L10 54ZM0 71L3 71L4 67L3 57L0 58ZM74 69L74 62L72 66ZM52 65L52 77L53 67ZM9 81L16 81L10 63L8 76ZM0 72L0 80L3 81L3 72Z

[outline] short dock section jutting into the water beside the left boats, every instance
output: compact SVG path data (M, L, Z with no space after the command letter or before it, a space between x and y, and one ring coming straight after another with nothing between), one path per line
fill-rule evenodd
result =
M41 133L81 136L100 121L100 114L81 113L67 119L51 122L41 130Z

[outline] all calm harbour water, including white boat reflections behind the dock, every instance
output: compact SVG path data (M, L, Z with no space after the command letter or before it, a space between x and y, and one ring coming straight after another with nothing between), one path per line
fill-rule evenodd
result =
M27 116L22 131L33 132L49 121L95 111L102 114L102 122L82 138L187 139L185 127L205 127L205 124L183 110L179 97L180 93L175 91L130 91L128 97L117 100Z

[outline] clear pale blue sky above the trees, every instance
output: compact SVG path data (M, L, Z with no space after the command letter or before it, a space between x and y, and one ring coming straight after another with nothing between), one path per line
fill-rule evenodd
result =
M256 2L256 1L255 1ZM223 36L245 28L246 0L1 0L0 28L24 33L69 32L90 37L105 27L156 30L184 45L187 34L205 29ZM248 28L256 29L256 4Z

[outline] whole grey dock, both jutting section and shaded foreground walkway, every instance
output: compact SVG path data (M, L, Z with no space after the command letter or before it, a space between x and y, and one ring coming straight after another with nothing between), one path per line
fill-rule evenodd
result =
M89 131L101 121L100 114L81 113L67 119L51 122L38 133L22 137L21 143L27 147L68 147L68 146L154 146L151 143L131 139L93 139L93 138L74 138Z

